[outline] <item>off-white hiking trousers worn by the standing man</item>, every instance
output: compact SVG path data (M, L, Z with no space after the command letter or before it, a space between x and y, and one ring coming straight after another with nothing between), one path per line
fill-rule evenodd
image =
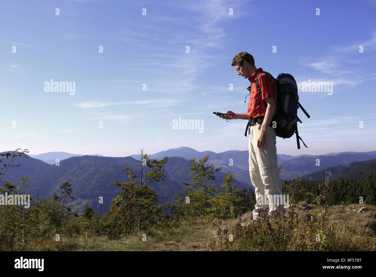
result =
M249 127L249 174L256 194L254 219L261 216L260 208L268 208L272 216L279 216L284 212L282 185L277 166L276 132L269 126L266 146L258 148L260 129L259 123Z

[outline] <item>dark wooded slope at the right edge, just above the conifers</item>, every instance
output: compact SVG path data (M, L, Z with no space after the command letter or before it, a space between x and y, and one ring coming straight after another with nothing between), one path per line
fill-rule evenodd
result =
M331 179L337 179L337 178L347 179L346 176L353 176L353 178L350 178L350 179L360 180L362 176L364 177L363 172L367 171L367 170L364 170L364 168L363 168L364 165L367 165L366 168L369 167L371 169L373 168L374 170L376 170L376 159L371 159L369 161L361 161L361 162L351 162L348 165L337 165L336 167L328 167L328 168L325 168L325 169L317 170L317 171L314 171L312 173L303 175L302 179L303 180L322 181L322 180L325 180L325 176L326 176L325 172L329 171L332 174ZM362 167L362 168L360 168L360 167ZM355 169L357 169L357 170L355 170ZM352 173L347 174L349 172L352 172ZM369 171L369 173L373 173L373 172ZM367 177L367 176L365 176L365 177Z

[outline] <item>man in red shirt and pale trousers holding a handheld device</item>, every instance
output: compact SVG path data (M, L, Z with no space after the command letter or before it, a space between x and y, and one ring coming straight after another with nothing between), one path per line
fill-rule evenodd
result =
M233 57L231 66L235 66L238 75L251 82L247 113L227 111L222 118L247 119L249 127L249 174L255 187L256 205L251 221L259 222L265 208L270 216L278 218L284 212L282 185L277 168L276 132L271 127L276 115L277 87L275 80L267 73L261 73L258 84L262 92L260 99L255 78L262 68L255 67L255 60L247 52L240 52ZM253 119L253 120L252 120ZM257 120L258 119L258 120ZM259 121L259 122L258 122ZM262 124L260 124L260 122ZM242 223L246 226L248 223Z

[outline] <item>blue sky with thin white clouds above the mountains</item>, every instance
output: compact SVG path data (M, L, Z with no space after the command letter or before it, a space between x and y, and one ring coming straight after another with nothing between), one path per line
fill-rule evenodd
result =
M250 83L230 65L241 51L274 77L293 75L311 115L298 110L308 148L277 138L277 153L376 150L376 1L278 3L2 1L0 151L247 150L246 121L212 114L247 110ZM51 79L74 82L74 94L45 92ZM333 82L332 95L302 92L309 79ZM174 130L179 117L202 131Z

